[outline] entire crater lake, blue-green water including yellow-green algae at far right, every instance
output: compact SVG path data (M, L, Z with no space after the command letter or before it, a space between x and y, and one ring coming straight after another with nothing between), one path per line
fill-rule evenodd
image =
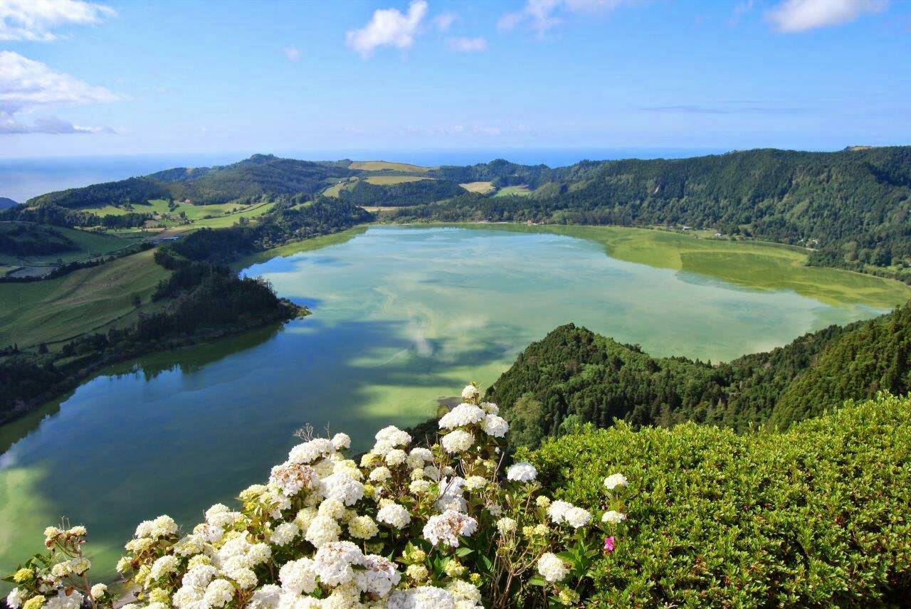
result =
M104 370L0 428L0 572L67 516L88 527L96 578L110 577L140 520L197 522L268 477L303 424L347 431L361 450L466 381L495 381L560 324L728 360L907 298L881 279L796 269L790 249L684 255L701 239L598 230L371 227L245 269L313 314ZM774 272L759 269L766 250Z

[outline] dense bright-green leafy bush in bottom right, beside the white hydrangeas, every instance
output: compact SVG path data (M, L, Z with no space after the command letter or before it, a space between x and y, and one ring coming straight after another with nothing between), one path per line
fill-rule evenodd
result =
M583 507L630 479L592 605L908 606L909 452L911 399L881 394L784 432L619 422L527 457Z

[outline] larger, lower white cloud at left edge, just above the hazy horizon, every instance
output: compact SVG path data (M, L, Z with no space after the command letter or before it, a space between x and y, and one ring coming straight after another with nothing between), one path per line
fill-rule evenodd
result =
M39 107L81 106L123 99L103 86L89 85L55 72L13 51L0 51L0 133L99 133L106 127L79 127L56 117L36 118L32 125L15 115Z

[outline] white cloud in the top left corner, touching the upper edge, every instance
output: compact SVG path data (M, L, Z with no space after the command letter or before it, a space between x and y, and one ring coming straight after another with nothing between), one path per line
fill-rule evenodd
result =
M50 42L64 25L95 25L117 12L83 0L0 0L0 40Z

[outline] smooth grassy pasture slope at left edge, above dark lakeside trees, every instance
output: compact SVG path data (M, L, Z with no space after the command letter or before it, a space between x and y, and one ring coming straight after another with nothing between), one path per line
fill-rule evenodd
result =
M149 249L58 279L0 284L0 345L32 346L134 321L139 310L155 308L149 297L170 273L153 254ZM134 294L143 302L138 310Z

